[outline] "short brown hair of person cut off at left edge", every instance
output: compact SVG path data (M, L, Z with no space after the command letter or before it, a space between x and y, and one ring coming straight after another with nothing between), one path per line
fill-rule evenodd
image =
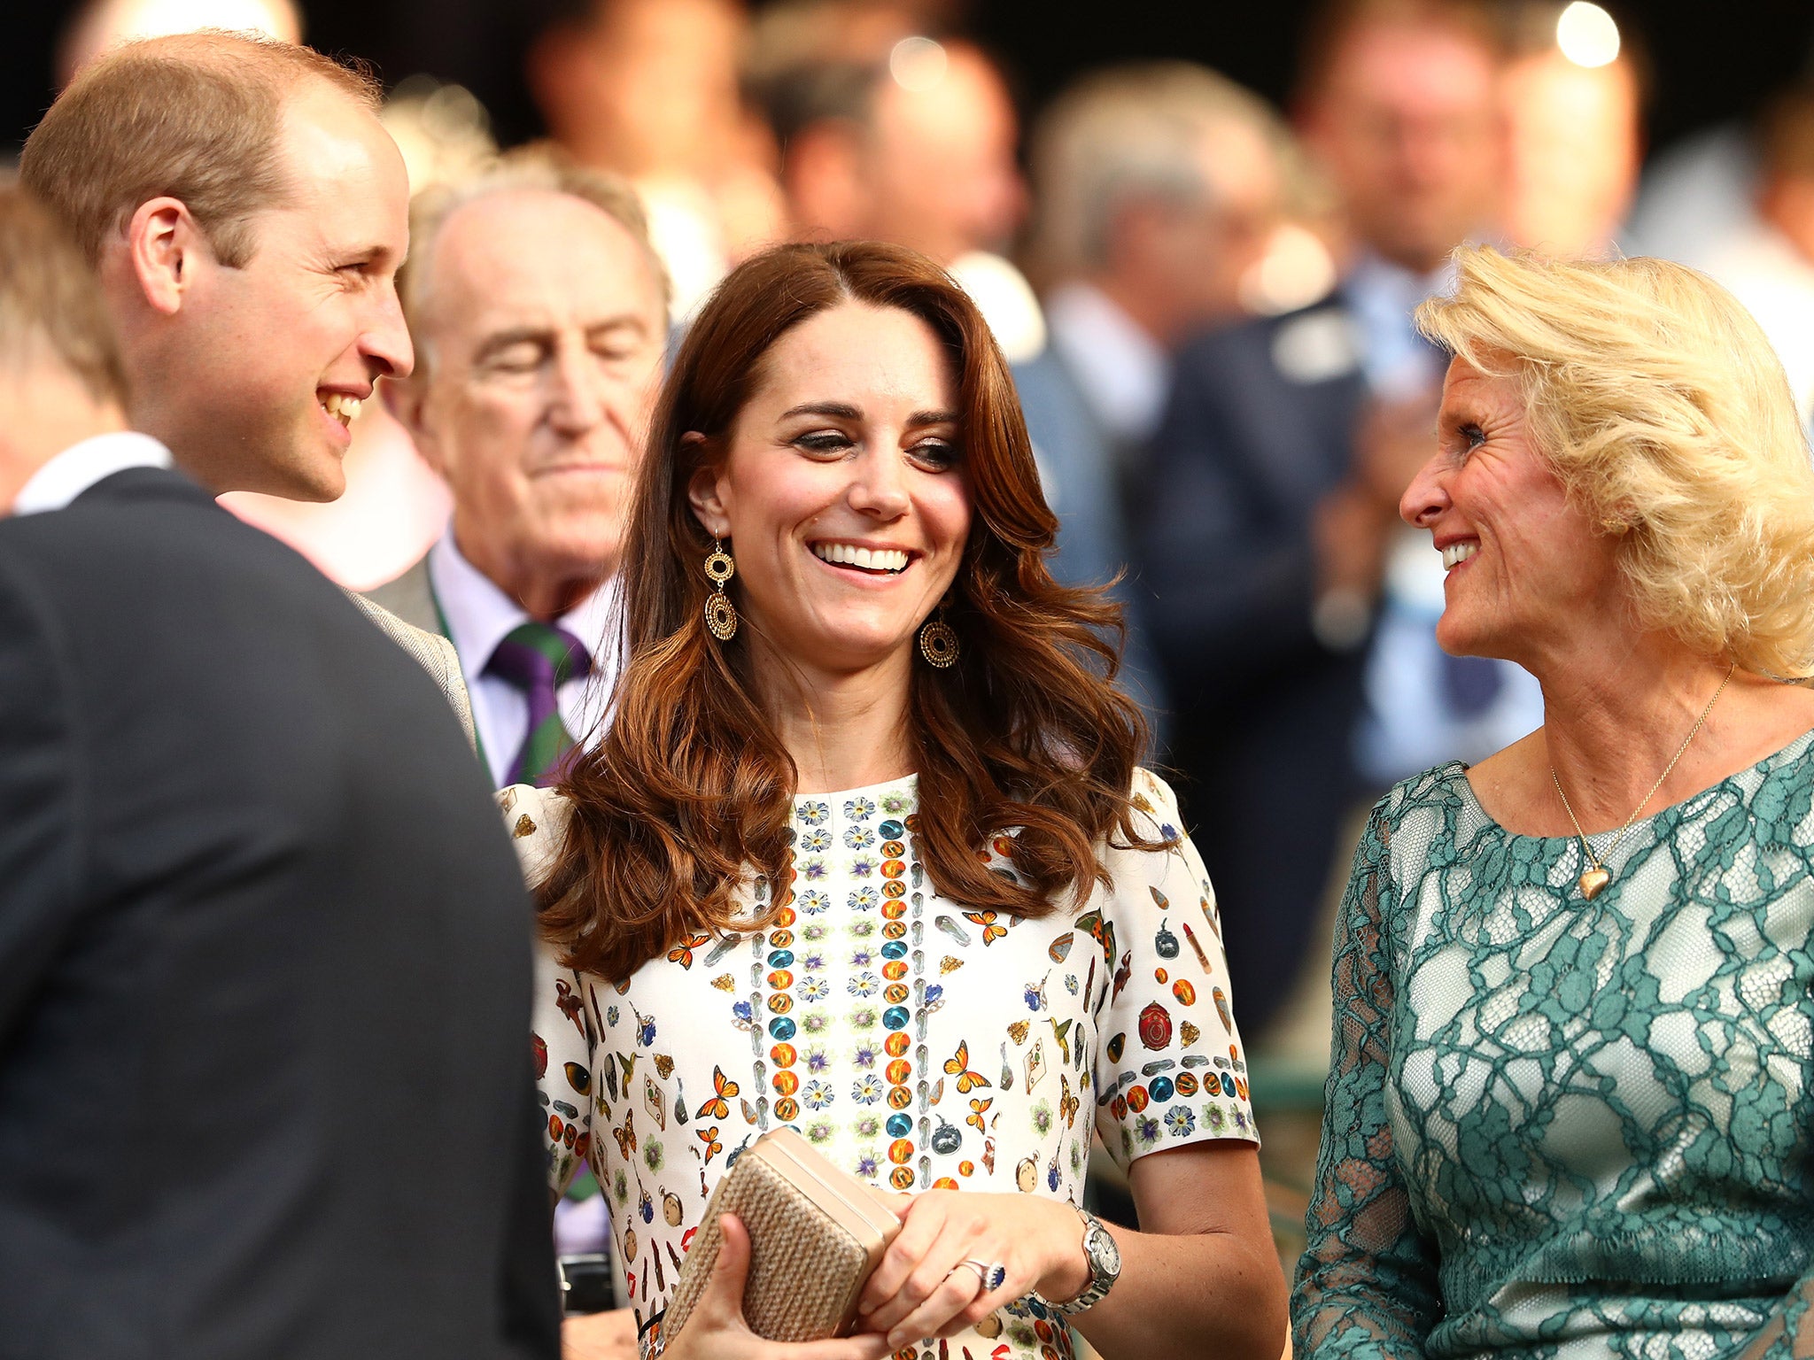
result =
M125 368L82 252L16 185L0 187L0 364L62 364L100 404L125 406Z

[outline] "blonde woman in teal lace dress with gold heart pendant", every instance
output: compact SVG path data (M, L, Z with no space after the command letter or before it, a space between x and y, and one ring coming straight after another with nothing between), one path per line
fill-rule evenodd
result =
M1355 856L1301 1356L1814 1353L1814 471L1654 259L1458 254L1402 513L1546 722Z

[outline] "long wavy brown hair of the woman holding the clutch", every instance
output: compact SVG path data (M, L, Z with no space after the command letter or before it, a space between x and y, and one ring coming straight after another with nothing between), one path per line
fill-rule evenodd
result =
M1045 916L1068 890L1108 881L1097 847L1110 836L1159 849L1132 821L1146 731L1112 684L1119 607L1047 571L1058 520L989 325L912 250L785 245L718 287L662 388L622 555L629 660L617 713L562 783L571 816L541 890L542 932L568 967L620 981L700 936L749 930L740 889L751 874L775 885L769 912L793 898L798 774L756 700L746 638L718 642L706 629L713 540L688 482L722 457L775 341L847 301L925 321L958 377L972 515L945 622L961 655L947 671L914 667L905 733L927 876L970 910ZM1023 881L978 854L1001 832L1016 832Z

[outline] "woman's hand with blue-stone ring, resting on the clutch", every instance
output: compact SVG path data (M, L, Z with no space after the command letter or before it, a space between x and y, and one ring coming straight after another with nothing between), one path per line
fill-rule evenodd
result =
M1039 1195L927 1190L905 1200L902 1231L858 1300L856 1326L887 1335L889 1349L974 1327L1029 1289L1076 1298L1090 1282L1083 1220L1063 1200ZM1005 1278L987 1289L983 1266Z

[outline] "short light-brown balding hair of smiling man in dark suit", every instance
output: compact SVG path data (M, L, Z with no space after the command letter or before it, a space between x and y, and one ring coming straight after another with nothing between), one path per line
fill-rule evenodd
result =
M169 196L238 268L256 248L249 218L288 192L283 103L307 80L379 105L368 69L276 38L203 31L125 44L51 105L20 152L20 181L91 263L141 203Z

